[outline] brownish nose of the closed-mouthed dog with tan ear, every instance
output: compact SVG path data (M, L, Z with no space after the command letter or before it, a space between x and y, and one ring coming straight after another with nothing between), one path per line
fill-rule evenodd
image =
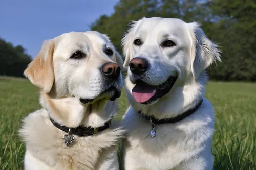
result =
M116 79L119 77L121 68L116 63L106 63L101 67L101 72L109 78Z

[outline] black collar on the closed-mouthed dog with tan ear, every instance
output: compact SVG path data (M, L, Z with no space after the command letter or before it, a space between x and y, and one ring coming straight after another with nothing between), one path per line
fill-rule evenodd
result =
M55 127L57 127L58 129L69 133L69 129L70 129L70 133L73 135L77 135L77 136L91 136L94 135L100 131L103 131L105 129L108 129L111 123L111 120L109 120L108 122L106 122L103 126L99 127L99 128L92 128L92 127L77 127L77 128L68 128L66 126L61 126L59 123L55 122L52 118L50 118L51 122L53 123L53 125Z

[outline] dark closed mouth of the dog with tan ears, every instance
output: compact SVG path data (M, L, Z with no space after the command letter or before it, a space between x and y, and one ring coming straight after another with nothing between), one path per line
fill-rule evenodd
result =
M121 96L121 91L119 91L114 86L111 86L108 89L104 90L97 98L94 98L94 99L80 98L79 100L82 104L87 104L87 103L93 103L98 99L106 99L106 100L114 101L117 98L120 98L120 96Z

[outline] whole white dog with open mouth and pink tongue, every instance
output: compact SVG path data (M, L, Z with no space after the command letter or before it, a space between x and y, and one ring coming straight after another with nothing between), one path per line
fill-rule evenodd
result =
M159 17L132 22L122 45L130 102L122 168L212 169L214 111L203 96L218 46L196 22Z

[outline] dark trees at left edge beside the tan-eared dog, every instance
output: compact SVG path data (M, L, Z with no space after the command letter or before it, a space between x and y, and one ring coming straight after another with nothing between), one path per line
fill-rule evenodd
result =
M23 77L31 57L21 45L13 46L0 38L0 75Z

